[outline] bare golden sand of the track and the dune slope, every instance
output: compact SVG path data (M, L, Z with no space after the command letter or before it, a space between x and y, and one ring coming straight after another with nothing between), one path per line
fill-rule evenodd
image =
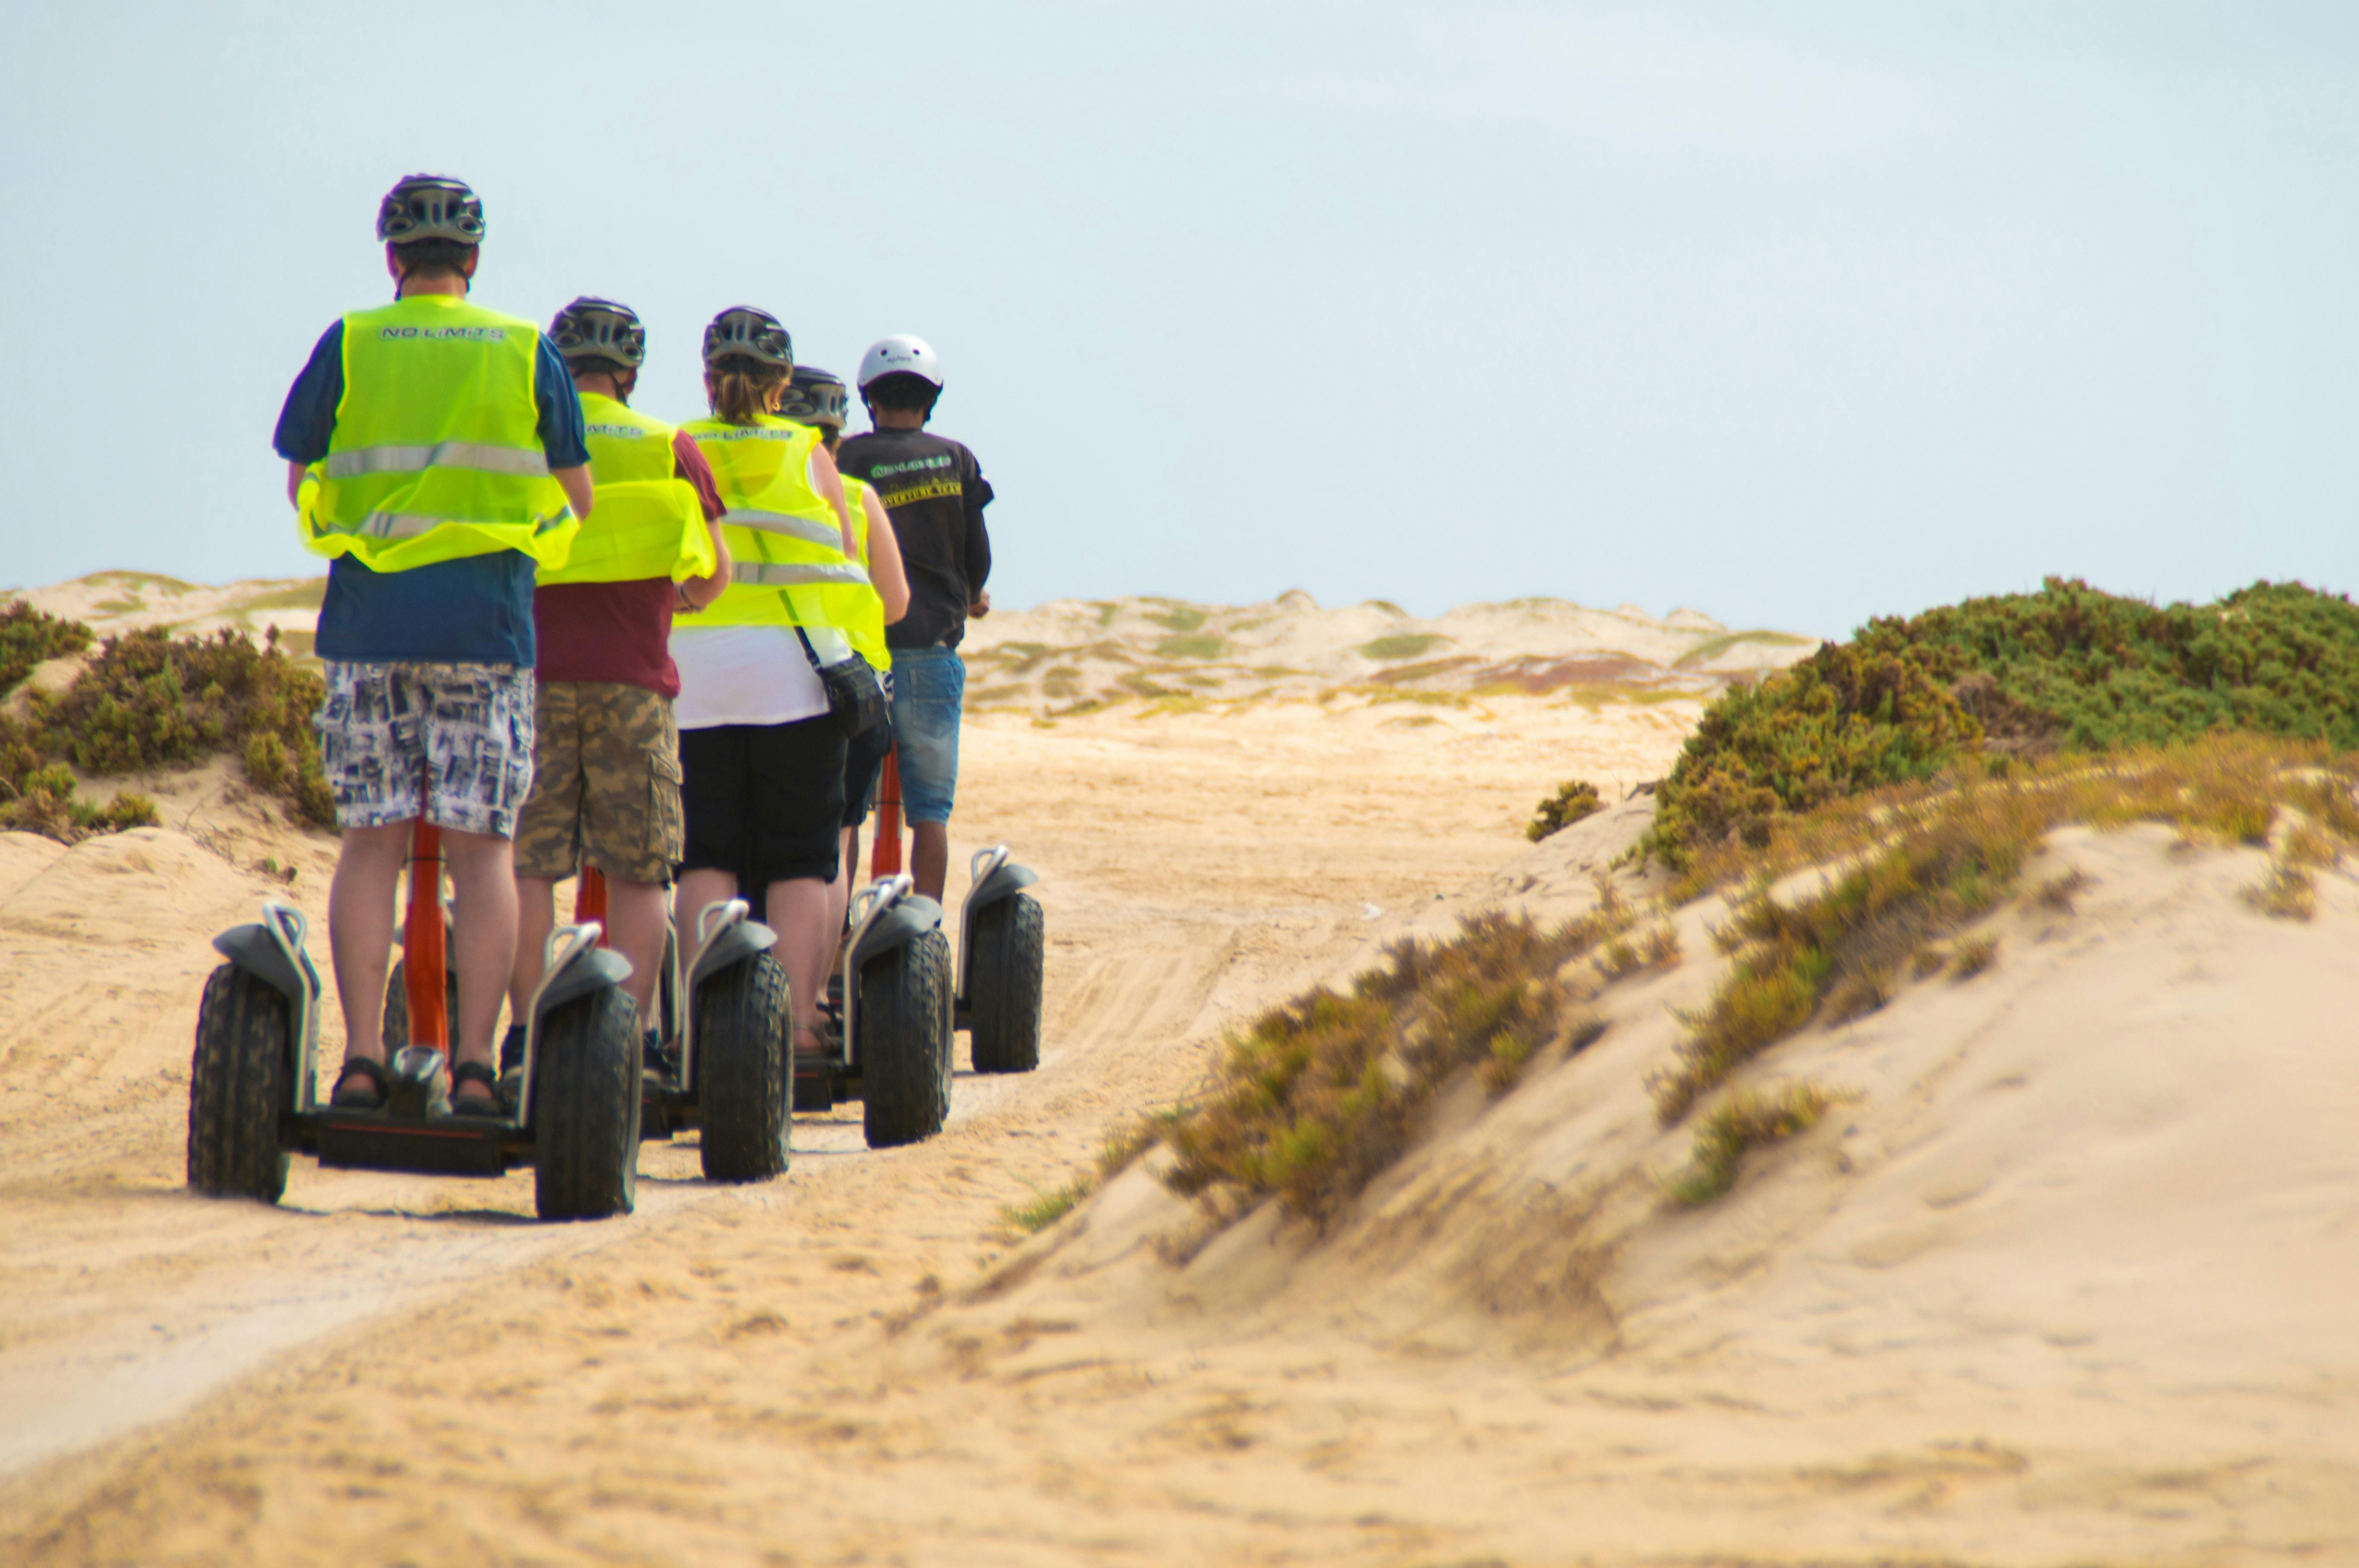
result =
M1517 828L1559 778L1658 776L1720 637L1625 625L1637 691L1460 667L1411 703L1345 679L1371 606L1201 703L1005 655L1087 613L993 618L972 689L1031 686L970 726L958 818L1045 877L1043 1068L962 1075L918 1148L797 1118L767 1188L649 1146L627 1221L526 1224L528 1177L186 1198L205 938L262 858L316 910L328 842L217 773L158 830L0 837L0 1561L2359 1561L2359 887L2269 922L2260 851L2059 835L2033 877L2083 868L2078 908L1772 1052L1755 1080L1852 1099L1703 1212L1656 1186L1687 1134L1644 1075L1720 969L1710 903L1597 1045L1465 1085L1323 1238L1213 1233L1149 1158L1017 1243L1000 1207L1224 1023L1595 898L1644 797ZM1427 625L1477 670L1545 653L1463 615Z

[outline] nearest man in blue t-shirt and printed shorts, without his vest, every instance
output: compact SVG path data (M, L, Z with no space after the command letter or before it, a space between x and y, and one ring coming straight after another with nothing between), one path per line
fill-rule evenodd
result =
M484 207L462 182L413 174L377 215L396 299L465 297ZM573 377L538 337L533 401L540 450L576 516L590 516L590 448ZM344 323L295 377L274 446L288 500L328 457L344 403ZM533 783L533 559L519 549L370 571L342 554L314 644L328 665L321 769L344 830L328 891L328 946L344 1009L344 1068L330 1103L385 1103L382 1002L394 889L418 821L443 835L455 887L451 1108L500 1115L493 1026L517 948L512 839Z

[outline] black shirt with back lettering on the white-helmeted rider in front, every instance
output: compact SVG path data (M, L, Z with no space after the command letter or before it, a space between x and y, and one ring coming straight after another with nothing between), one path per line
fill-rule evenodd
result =
M922 429L875 429L845 441L835 467L875 486L901 545L908 615L885 627L885 646L955 648L967 634L967 606L991 578L984 465L958 441Z

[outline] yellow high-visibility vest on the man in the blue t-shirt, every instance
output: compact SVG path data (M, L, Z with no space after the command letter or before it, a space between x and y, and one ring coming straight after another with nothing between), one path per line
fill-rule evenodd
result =
M564 566L580 523L540 450L540 328L455 295L344 316L344 401L297 493L302 540L370 571L521 549Z

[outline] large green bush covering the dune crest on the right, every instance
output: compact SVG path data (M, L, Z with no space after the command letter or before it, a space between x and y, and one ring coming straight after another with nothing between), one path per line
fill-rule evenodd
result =
M2298 582L2154 606L2050 578L2036 594L1871 620L1703 722L1642 849L1673 870L1779 818L1927 780L1965 755L2118 750L2246 731L2359 747L2359 606Z

